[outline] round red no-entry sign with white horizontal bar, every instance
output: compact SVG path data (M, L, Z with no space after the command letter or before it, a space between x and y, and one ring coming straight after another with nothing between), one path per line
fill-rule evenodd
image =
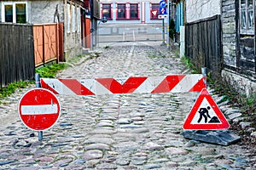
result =
M49 90L34 88L21 97L18 112L26 127L43 131L55 125L61 116L61 105Z

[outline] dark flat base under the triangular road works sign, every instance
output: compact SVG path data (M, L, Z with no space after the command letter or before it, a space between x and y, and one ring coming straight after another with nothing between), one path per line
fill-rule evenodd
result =
M237 136L235 133L229 130L184 130L182 134L186 139L195 139L201 142L220 144L225 146L235 144L241 139L240 136Z

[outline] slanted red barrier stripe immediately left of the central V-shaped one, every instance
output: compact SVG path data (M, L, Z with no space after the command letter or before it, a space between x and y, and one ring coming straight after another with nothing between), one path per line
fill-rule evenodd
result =
M95 95L88 88L85 88L81 82L76 79L59 79L67 88L77 95Z

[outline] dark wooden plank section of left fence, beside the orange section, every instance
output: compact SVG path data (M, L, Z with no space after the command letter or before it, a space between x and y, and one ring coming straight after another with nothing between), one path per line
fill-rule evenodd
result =
M32 29L32 25L0 23L0 88L34 77Z

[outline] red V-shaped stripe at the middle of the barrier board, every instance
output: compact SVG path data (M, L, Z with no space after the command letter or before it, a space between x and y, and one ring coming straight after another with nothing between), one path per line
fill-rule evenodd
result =
M96 78L105 88L108 88L113 94L131 94L133 93L148 77L130 77L124 84L120 84L113 78Z

